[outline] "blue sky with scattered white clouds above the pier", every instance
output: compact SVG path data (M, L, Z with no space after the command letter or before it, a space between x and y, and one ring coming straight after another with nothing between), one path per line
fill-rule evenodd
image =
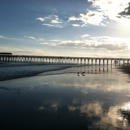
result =
M1 0L0 52L129 57L130 0Z

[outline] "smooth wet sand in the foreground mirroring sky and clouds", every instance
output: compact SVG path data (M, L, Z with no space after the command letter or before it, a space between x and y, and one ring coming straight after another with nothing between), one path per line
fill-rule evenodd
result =
M0 82L2 128L128 129L130 87L123 76L111 67L84 66Z

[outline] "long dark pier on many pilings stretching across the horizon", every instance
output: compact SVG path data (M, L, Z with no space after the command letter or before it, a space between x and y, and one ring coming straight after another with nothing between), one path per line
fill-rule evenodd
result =
M68 56L29 56L0 54L0 62L44 63L44 64L88 64L88 65L124 65L130 58L104 57L68 57Z

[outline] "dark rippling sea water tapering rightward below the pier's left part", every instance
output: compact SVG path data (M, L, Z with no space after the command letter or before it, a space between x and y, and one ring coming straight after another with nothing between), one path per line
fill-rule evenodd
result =
M40 73L62 70L79 65L59 65L59 64L41 64L41 63L1 63L0 81L17 79L23 77L35 76Z

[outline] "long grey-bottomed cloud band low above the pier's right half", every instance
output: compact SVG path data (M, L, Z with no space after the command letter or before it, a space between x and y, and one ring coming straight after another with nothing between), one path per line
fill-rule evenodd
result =
M88 34L83 35L83 37L89 36ZM124 43L124 42L125 43ZM81 41L51 41L48 42L49 45L53 46L64 46L71 48L80 49L104 49L107 51L123 51L129 48L130 39L125 38L114 38L114 37L90 37L88 40Z

